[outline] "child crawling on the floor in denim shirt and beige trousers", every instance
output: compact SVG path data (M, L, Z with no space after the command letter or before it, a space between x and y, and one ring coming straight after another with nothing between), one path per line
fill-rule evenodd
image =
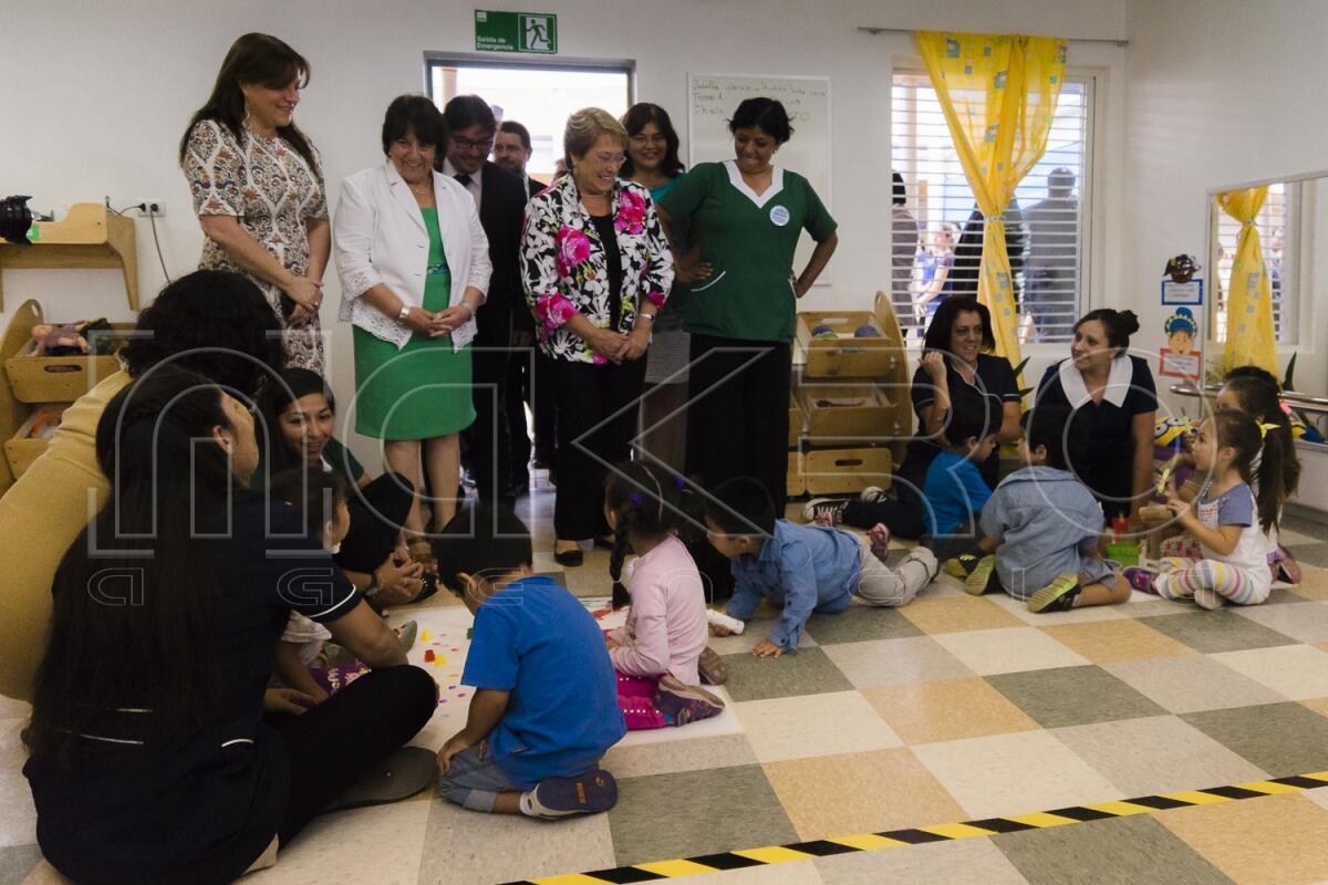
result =
M867 605L906 605L936 576L936 556L914 548L898 571L884 564L883 547L825 525L798 525L774 517L774 503L754 479L730 479L705 502L706 537L730 560L734 588L725 612L746 621L762 600L784 606L770 637L752 653L780 657L798 647L813 612L837 614L859 597ZM726 636L721 626L710 626Z

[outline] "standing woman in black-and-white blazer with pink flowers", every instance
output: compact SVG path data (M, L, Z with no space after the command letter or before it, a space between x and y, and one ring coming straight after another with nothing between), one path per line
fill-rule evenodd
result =
M631 454L641 357L673 281L649 192L618 178L625 149L627 131L608 111L576 111L563 135L570 171L526 207L522 279L552 365L558 486L567 492L554 507L563 565L580 565L579 541L608 532L604 464Z

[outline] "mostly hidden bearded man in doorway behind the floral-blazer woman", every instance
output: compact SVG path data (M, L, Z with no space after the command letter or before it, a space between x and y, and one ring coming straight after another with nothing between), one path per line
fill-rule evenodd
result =
M544 183L526 174L526 165L533 153L530 143L530 130L514 119L505 119L498 123L498 133L494 135L493 161L502 169L521 178L526 186L526 192L534 196L544 190ZM511 460L509 462L509 491L514 498L526 494L530 488L530 431L526 427L526 406L529 405L535 418L535 467L547 467L550 480L556 482L554 456L556 444L554 433L556 417L554 411L552 391L539 386L540 369L546 357L535 346L534 336L523 340L521 332L513 337L513 344L529 346L530 350L517 350L507 364L507 435L511 439ZM544 372L544 377L548 372Z

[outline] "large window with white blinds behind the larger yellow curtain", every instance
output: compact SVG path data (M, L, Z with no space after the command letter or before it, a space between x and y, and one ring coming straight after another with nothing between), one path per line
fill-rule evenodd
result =
M1069 341L1085 300L1092 102L1092 78L1066 77L1046 151L1005 215L1024 344ZM944 299L976 296L983 216L924 70L894 74L890 141L903 178L891 212L891 300L906 337L919 341Z

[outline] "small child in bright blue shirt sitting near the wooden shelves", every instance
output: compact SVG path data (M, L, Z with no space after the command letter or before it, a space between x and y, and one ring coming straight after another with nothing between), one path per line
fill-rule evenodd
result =
M996 450L1000 430L1000 403L985 397L959 397L947 415L943 448L923 480L923 510L927 536L922 543L940 560L947 560L973 544L977 515L991 498L981 464Z

